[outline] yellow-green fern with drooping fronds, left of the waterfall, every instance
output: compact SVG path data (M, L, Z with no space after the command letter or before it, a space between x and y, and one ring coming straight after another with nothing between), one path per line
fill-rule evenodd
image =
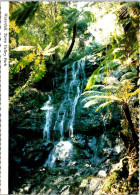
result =
M26 51L30 50L32 47L24 46L16 48L15 51ZM16 89L16 93L13 97L10 98L9 104L12 104L18 96L28 88L30 85L33 85L34 82L39 82L46 74L46 64L44 56L50 56L54 53L55 48L51 48L51 43L43 50L41 46L38 44L36 52L31 52L27 56L23 57L16 64L10 66L10 74L14 75L21 72L27 66L30 67L30 76L25 84ZM36 54L35 54L36 53Z

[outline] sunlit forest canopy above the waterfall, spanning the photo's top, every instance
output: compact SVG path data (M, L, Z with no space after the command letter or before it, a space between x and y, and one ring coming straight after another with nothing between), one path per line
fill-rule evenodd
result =
M26 72L10 103L48 70L57 74L62 62L89 54L101 63L86 90L98 83L99 73L125 72L123 79L136 80L138 13L138 2L10 2L10 78L20 80Z

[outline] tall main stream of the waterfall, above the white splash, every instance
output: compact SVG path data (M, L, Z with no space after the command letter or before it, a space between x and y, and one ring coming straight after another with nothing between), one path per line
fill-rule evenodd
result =
M66 115L69 115L67 129L69 129L70 137L73 137L73 126L75 119L75 109L78 99L83 90L85 80L85 59L74 62L71 67L71 74L68 75L68 65L65 68L64 83L67 91L64 100L61 102L57 112L54 130L60 132L60 141L64 138L64 125ZM69 106L67 106L69 105Z

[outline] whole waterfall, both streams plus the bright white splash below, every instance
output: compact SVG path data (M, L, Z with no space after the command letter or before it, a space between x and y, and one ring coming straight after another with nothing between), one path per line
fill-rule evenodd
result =
M57 109L57 114L55 117L56 120L54 127L52 127L54 132L59 132L59 139L57 140L59 142L54 146L54 149L49 154L49 157L44 164L45 167L54 167L56 159L65 161L65 159L72 154L71 141L63 141L64 130L65 128L69 130L69 137L73 137L76 105L82 93L85 81L85 59L74 62L71 66L67 65L64 67L64 69L64 90L66 93L64 93L63 99L60 102L59 108ZM55 83L53 83L53 85L55 85ZM50 103L51 99L49 97L49 100L44 106L47 107L47 109L44 109L47 111L43 138L45 139L47 135L47 142L50 141L50 125L53 113L53 109L48 109L48 107L50 108Z

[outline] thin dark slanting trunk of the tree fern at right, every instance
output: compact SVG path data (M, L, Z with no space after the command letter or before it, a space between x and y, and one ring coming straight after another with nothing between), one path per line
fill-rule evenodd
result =
M129 106L128 106L128 104L126 102L123 102L123 110L124 110L126 118L128 120L128 123L129 123L129 126L130 126L130 130L131 130L131 133L132 133L132 138L133 138L136 150L138 152L139 151L139 147L138 147L138 145L139 145L139 138L138 138L138 135L135 132L134 125L133 125L132 119L131 119L131 113L130 113L130 110L129 110Z

